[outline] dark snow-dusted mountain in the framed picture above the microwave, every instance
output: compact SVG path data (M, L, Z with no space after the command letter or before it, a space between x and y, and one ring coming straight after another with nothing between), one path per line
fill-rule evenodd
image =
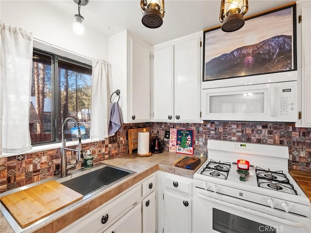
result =
M276 35L243 46L211 59L205 67L205 80L292 70L292 36Z

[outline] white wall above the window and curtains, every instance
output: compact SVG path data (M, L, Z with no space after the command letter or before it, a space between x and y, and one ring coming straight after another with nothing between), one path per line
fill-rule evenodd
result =
M72 32L73 16L77 14L78 9L77 4L73 1L58 1L55 5L52 2L48 0L1 0L1 22L32 32L35 39L52 46L90 59L108 60L107 36L98 33L90 26L85 27L85 33L82 36ZM64 12L63 9L68 9L65 7L67 4L72 5L72 11Z

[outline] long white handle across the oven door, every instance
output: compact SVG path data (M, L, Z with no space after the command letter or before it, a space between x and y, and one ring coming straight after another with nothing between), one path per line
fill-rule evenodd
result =
M210 198L210 197L207 197L205 195L202 195L201 193L198 193L198 196L201 199L208 200L208 201L220 204L220 205L224 205L224 206L229 207L229 208L234 208L234 209L243 211L244 213L248 213L248 214L251 214L251 215L255 215L255 216L266 218L268 220L276 221L276 222L279 222L279 223L282 223L282 224L285 224L285 225L288 225L288 226L291 226L291 227L296 227L296 228L303 228L303 227L305 227L305 224L303 222L293 222L293 221L289 221L289 220L286 220L286 219L283 219L283 218L279 218L279 217L276 217L276 216L267 215L267 214L258 212L256 210L251 210L251 209L239 206L239 205L235 205L235 204L231 204L231 203L228 203L228 202L225 202L225 201L221 201L221 200L217 200L217 199L214 199L214 198Z

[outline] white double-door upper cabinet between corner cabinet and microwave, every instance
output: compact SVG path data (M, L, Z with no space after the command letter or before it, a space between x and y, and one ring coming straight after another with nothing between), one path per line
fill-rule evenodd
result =
M202 32L154 47L153 120L200 122Z

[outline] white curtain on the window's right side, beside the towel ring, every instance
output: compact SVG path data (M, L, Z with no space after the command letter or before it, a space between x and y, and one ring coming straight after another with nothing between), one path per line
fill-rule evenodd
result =
M111 65L102 59L92 62L92 114L90 137L107 138L110 117Z

